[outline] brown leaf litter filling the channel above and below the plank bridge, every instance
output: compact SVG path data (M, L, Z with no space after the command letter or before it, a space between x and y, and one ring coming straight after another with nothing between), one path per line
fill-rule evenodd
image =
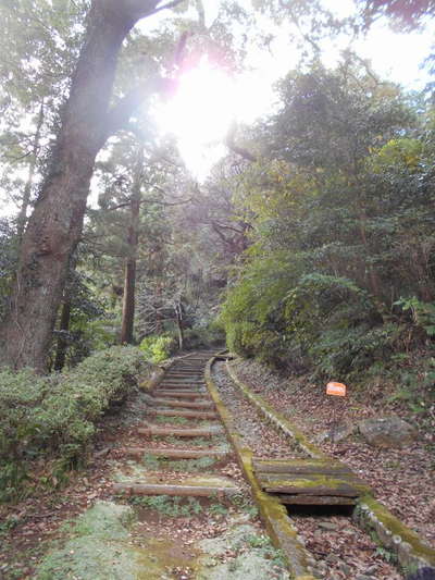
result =
M213 367L213 379L224 404L234 414L235 425L245 443L263 458L301 457L289 439L259 418L254 407L240 394L226 372L225 363ZM313 515L313 513L315 515ZM314 576L327 580L400 580L402 576L385 554L351 520L346 509L312 508L303 513L289 508L299 541L311 552Z

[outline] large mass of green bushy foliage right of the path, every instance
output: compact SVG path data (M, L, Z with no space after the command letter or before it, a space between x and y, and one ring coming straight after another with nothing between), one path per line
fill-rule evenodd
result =
M281 96L237 190L253 245L221 313L228 347L324 379L403 386L407 362L395 357L422 361L434 348L433 111L350 53L334 71L290 73Z

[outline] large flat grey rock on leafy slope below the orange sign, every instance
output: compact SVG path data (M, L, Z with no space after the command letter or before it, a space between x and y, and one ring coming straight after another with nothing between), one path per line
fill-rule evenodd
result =
M365 419L358 423L361 435L376 447L406 447L415 441L415 429L399 417Z

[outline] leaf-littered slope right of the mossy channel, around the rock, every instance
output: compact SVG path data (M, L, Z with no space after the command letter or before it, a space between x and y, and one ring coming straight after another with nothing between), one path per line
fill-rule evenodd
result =
M397 415L418 424L415 415L397 403L388 403L382 390L369 395L349 388L349 396L328 397L325 385L307 378L287 379L253 361L237 361L238 377L295 422L312 441L340 423ZM402 449L381 449L360 436L336 444L320 443L327 454L348 464L408 527L435 546L435 416L420 422L418 441Z

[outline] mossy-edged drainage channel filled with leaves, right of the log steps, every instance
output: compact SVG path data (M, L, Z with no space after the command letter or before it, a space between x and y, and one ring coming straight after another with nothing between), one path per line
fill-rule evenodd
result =
M231 369L231 366L228 367L220 361L210 362L207 371L207 380L217 408L224 417L228 434L236 446L239 462L247 478L250 480L256 499L260 505L260 510L271 531L271 536L275 544L281 545L286 552L293 577L355 578L359 580L385 578L390 580L403 578L402 575L407 576L419 568L426 568L427 573L431 573L428 570L432 570L432 573L434 573L435 552L423 544L413 531L406 528L384 506L378 504L371 496L370 490L360 485L358 479L350 473L346 466L343 466L343 467L336 465L332 458L330 459L312 445L303 433L298 431L288 420L279 416L261 397L252 393L247 385L241 383ZM264 437L264 431L260 433L260 441L257 444L254 453L247 448L247 440L249 441L248 446L256 447L256 436L251 436L250 439L253 440L251 441L249 434L244 433L246 422L253 415L257 415L261 422L266 421L273 431L279 432L287 439L287 449L278 449L275 456L289 456L289 460L287 459L287 461L281 462L276 460L261 461L261 458L268 456L268 447L270 447ZM244 435L243 437L240 437L240 432ZM301 464L308 465L310 476L304 476L307 480L312 479L311 467L313 466L314 468L330 466L332 469L331 472L335 473L334 477L337 477L338 469L340 479L341 473L346 472L347 482L356 482L355 488L358 490L358 496L353 497L353 502L349 501L349 504L353 505L347 508L347 516L344 515L346 514L346 508L341 507L335 510L334 506L322 509L308 505L304 509L300 509L299 506L291 505L288 506L290 518L287 518L285 522L282 516L282 510L285 508L281 504L279 498L286 502L285 498L287 497L288 499L290 497L290 502L294 504L299 502L303 504L304 502L296 495L283 495L283 492L281 495L265 494L261 485L262 474L254 472L252 469L252 466L256 468L256 459L252 461L252 455L260 459L257 464L262 464L266 467L270 467L269 464L275 465L275 470L276 465L282 467L281 464L286 464L286 469L288 465L291 465L294 469L295 466L299 469ZM306 459L301 460L301 457ZM307 468L304 468L306 471ZM281 479L285 478L281 476ZM282 483L284 484L284 482ZM312 481L308 483L312 484ZM264 485L268 485L268 483ZM298 491L304 493L303 490ZM312 492L308 493L311 494ZM331 501L337 499L337 495L340 493L347 493L347 490L336 492L334 497L327 498L327 503L334 503ZM355 493L352 495L357 494ZM310 502L312 499L311 495L302 495L301 497L310 498ZM346 497L341 497L339 503L346 504L347 502L343 499L346 499ZM268 509L269 511L272 509L271 501L275 503L276 511L268 515ZM276 503L278 506L276 506ZM323 517L321 517L322 511ZM268 517L270 519L269 522ZM286 545L283 545L282 536L276 533L276 529L283 529L283 527L287 527L285 534L287 538ZM313 536L315 535L316 541L313 542ZM349 542L348 548L346 547L347 542ZM352 554L352 543L357 546L365 546L372 556L370 558L364 557L359 562L357 555ZM323 548L319 550L319 544L323 544ZM316 550L313 554L307 554L307 547L311 547L311 545L314 545ZM382 557L389 560L389 563L398 565L400 572L391 564L381 562Z

